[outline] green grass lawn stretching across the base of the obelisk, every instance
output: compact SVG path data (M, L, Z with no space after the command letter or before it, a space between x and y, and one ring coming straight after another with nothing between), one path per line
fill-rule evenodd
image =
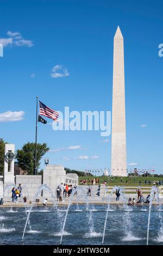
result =
M121 177L106 177L106 176L80 176L79 177L79 185L81 185L80 180L87 180L87 185L89 184L88 180L93 179L93 178L98 178L99 179L99 184L103 184L104 181L106 181L106 184L108 186L139 186L140 181L141 185L140 186L153 186L153 182L156 181L161 181L161 185L163 185L163 178L158 178L158 177L142 177L142 176L136 176L136 177L123 177L122 182L121 182ZM145 181L147 181L145 183ZM149 182L151 184L149 184Z

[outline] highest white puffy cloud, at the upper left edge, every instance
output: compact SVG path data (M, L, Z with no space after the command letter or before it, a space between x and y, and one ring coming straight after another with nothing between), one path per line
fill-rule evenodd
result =
M31 40L24 39L20 32L8 31L7 35L9 36L9 38L0 38L0 44L2 44L4 47L7 47L9 45L27 47L34 46L33 42Z

